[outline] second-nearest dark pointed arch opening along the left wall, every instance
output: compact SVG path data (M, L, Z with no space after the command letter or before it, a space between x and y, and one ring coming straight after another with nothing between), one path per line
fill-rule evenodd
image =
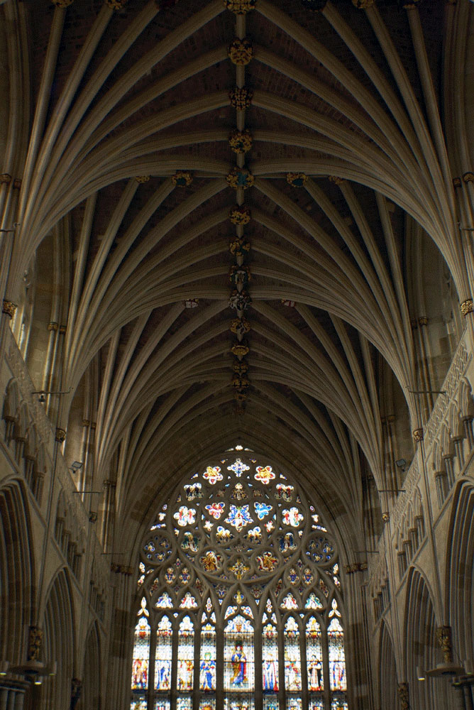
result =
M40 708L70 710L71 679L74 676L74 614L65 569L60 569L50 587L43 630L43 657L47 662L57 662L57 673L43 683Z

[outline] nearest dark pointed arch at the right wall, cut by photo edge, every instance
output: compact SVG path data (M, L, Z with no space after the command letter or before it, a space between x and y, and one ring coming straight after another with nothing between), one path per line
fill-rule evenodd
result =
M456 493L446 550L446 608L453 629L453 648L464 660L474 657L474 488L464 484Z

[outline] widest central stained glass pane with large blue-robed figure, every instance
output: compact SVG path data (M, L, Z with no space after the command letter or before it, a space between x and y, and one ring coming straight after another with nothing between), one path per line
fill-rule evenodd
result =
M240 614L224 629L224 689L253 690L253 626Z

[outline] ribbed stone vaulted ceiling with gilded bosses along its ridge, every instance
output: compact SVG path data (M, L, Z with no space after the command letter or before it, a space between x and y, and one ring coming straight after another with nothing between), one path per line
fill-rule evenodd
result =
M469 5L4 5L7 291L53 232L61 416L92 381L94 470L114 461L123 513L242 441L360 532L362 470L384 485L383 372L416 424L407 224L468 297L448 151Z

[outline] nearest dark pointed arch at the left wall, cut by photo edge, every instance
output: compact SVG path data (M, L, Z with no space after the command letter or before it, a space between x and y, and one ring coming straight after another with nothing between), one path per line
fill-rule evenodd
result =
M31 530L19 481L0 489L0 658L26 660L34 597Z

